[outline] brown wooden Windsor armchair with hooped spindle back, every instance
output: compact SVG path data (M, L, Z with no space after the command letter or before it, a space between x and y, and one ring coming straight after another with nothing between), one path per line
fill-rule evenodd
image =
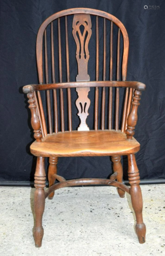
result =
M68 33L68 19L71 19L72 22L72 35ZM54 29L54 23L57 25L56 29ZM65 33L61 33L62 25L64 25ZM100 26L103 26L103 28L100 29ZM118 29L116 34L115 28ZM55 37L54 32L57 32ZM48 34L50 35L50 41L48 41ZM95 79L90 81L90 75L88 74L88 62L91 56L89 55L89 45L93 35L95 35L93 39L95 45L92 45L92 47L96 50L94 57L96 61L94 62L95 70L92 68L91 75L95 75ZM115 36L117 39L115 39ZM74 44L71 44L71 46L69 45L69 38L74 40ZM102 50L100 50L102 47L100 38L103 40ZM54 40L57 40L57 47L55 47L56 42ZM114 44L115 40L117 47ZM121 40L123 40L123 43L121 43ZM108 49L107 44L109 44ZM48 51L49 47L50 50ZM122 47L123 52L121 51ZM23 87L23 92L29 98L29 108L32 114L31 123L36 139L31 145L31 153L37 156L34 198L36 224L33 230L36 247L40 247L42 244L44 232L42 215L45 198L52 199L54 190L61 187L89 184L116 186L121 198L124 197L125 191L130 194L136 216L135 230L137 237L140 243L145 242L146 226L142 216L143 201L140 176L134 155L140 150L140 144L133 138L137 122L137 108L140 105L140 96L141 92L145 90L145 84L126 81L128 47L128 34L120 20L111 14L94 9L76 8L60 11L48 17L38 31L36 52L39 84ZM77 69L72 69L73 73L76 72L76 81L70 79L71 50L74 51L74 58L72 59L77 61ZM114 55L114 51L116 55ZM102 61L101 66L100 61ZM48 65L49 62L50 65ZM100 72L101 79L99 77ZM63 79L66 80L63 81ZM51 82L49 82L50 80ZM95 90L93 99L94 124L90 129L86 120L90 109L88 94L92 89ZM67 99L64 99L64 90L67 91ZM75 105L80 119L77 130L72 128L72 109L74 105L71 101L71 92L75 93L75 90L78 95ZM124 104L122 105L119 101L120 90L124 90ZM107 93L108 101L106 102ZM105 103L107 103L106 108ZM47 108L46 106L44 108L44 105ZM67 113L65 113L66 107ZM66 116L69 124L68 129L66 128ZM78 119L78 117L75 117L75 119ZM105 121L105 119L107 120ZM130 188L122 183L122 155L128 156ZM57 174L58 158L70 156L111 156L114 173L109 179L65 180ZM49 188L47 190L44 190L46 180L45 157L49 158ZM54 184L56 179L59 182Z

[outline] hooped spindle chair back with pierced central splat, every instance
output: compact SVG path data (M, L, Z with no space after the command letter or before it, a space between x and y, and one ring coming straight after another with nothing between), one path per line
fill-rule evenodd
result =
M126 80L128 48L124 25L103 11L68 9L42 23L36 43L39 83L89 84L75 87L77 95L74 88L67 86L47 90L46 95L43 91L35 93L43 137L53 132L71 132L77 126L78 131L125 132L132 89L112 88L101 81Z

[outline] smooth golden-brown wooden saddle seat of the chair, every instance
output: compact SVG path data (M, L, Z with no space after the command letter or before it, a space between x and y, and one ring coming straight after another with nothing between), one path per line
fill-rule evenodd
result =
M115 130L53 133L31 145L31 153L43 157L115 156L139 150L139 142L127 140L125 133Z

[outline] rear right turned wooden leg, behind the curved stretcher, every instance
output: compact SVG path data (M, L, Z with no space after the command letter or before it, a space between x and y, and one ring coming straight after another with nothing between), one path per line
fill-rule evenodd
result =
M123 182L123 167L121 164L121 156L113 156L112 161L113 161L114 173L116 173L116 172L118 173L117 181L122 183ZM125 191L118 188L118 194L121 198L123 198L125 196Z

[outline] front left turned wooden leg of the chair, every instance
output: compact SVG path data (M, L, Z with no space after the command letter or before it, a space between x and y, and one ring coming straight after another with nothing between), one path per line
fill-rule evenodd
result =
M42 216L45 208L45 166L44 157L37 157L37 166L35 172L35 196L34 196L34 211L36 215L36 223L33 229L33 236L36 247L41 247L44 230L42 227Z

